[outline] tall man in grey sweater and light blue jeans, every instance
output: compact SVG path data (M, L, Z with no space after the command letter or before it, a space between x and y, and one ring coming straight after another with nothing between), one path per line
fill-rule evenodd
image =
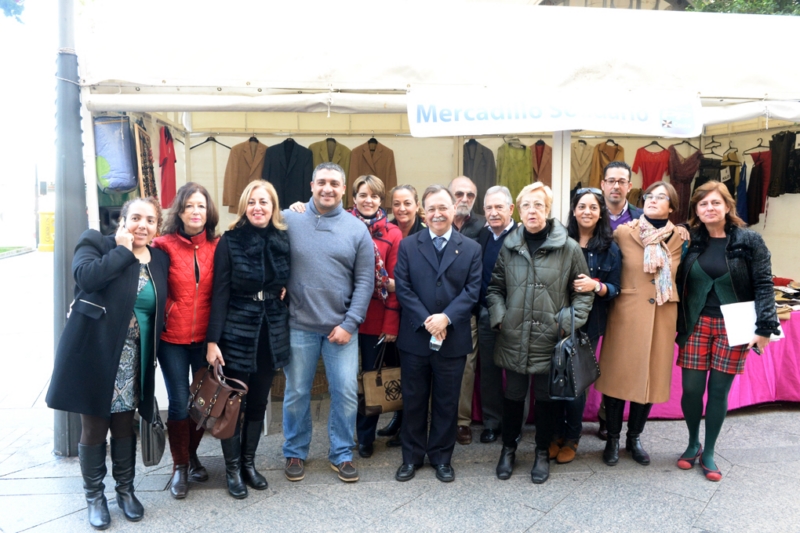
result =
M358 481L353 433L358 407L358 326L375 290L375 249L366 225L342 208L344 170L334 163L314 169L304 213L285 209L291 274L289 335L292 358L283 369L284 473L305 476L311 444L311 386L320 354L331 394L328 459L342 481Z

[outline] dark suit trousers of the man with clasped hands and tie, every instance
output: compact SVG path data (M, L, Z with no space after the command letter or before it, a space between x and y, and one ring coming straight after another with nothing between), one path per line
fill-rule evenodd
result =
M403 389L403 462L449 464L456 444L458 397L467 355L444 357L439 352L419 356L400 352ZM428 431L428 399L431 425Z

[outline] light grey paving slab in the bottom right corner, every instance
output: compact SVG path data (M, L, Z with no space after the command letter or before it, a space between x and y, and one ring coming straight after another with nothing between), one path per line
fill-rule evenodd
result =
M715 533L800 530L797 477L737 465L718 485L695 526Z

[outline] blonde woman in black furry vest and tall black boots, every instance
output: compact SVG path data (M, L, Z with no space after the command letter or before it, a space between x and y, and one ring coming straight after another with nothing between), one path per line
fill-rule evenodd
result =
M271 183L251 182L239 199L238 216L214 253L214 289L206 360L247 384L244 424L221 441L228 492L247 497L247 485L267 488L255 467L275 370L289 363L289 236Z

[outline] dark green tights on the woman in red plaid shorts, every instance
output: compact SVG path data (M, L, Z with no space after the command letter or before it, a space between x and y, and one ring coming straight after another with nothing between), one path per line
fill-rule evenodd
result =
M728 393L733 384L735 374L725 374L717 370L682 369L683 396L681 409L689 428L689 446L683 452L684 459L691 459L700 449L700 420L703 418L703 394L708 380L708 404L706 405L706 442L703 449L703 464L706 468L716 470L714 462L714 446L722 430L722 423L728 414Z

